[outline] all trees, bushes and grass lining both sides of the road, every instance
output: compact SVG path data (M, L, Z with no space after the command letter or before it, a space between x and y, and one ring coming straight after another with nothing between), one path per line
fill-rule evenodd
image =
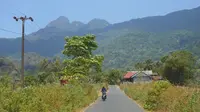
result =
M62 52L65 59L44 58L27 66L24 88L20 83L20 68L8 59L1 59L0 66L7 68L0 70L0 111L76 112L94 102L101 95L101 87L108 89L109 84L120 85L146 110L200 111L200 62L192 53L174 51L159 61L148 59L132 67L153 70L163 81L121 84L126 70L102 71L104 56L93 54L98 48L95 38L94 35L66 37Z

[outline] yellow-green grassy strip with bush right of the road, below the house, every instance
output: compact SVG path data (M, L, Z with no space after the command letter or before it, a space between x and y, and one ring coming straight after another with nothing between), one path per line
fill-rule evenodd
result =
M200 89L173 86L167 81L120 85L124 92L152 112L200 112Z

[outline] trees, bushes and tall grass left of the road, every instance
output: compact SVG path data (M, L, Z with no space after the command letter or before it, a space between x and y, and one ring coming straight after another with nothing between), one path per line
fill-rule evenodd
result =
M24 88L18 72L4 72L0 77L0 111L75 112L88 106L97 99L102 86L108 88L107 79L99 78L104 74L104 57L92 54L97 47L94 35L67 37L63 50L67 58L43 59L26 70ZM0 64L4 65L4 60ZM17 70L9 64L9 73Z

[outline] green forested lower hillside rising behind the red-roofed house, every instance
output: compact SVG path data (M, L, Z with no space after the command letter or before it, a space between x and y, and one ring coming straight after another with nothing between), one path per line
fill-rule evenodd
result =
M105 56L105 68L131 69L137 62L160 57L175 50L186 49L200 56L200 33L186 30L167 33L132 32L100 44L96 53Z

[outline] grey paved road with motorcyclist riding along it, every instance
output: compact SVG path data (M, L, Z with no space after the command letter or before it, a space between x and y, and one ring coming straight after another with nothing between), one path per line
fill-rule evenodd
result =
M109 86L106 101L98 99L85 112L144 112L135 102L129 99L117 86Z

